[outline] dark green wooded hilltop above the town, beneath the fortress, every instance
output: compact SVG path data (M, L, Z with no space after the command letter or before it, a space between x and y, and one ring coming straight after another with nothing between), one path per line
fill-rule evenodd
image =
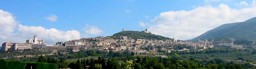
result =
M158 39L158 40L171 40L171 38L166 38L160 35L155 35L152 33L145 33L143 31L121 31L115 33L113 36L108 36L111 38L120 38L121 36L127 36L128 38L134 39Z

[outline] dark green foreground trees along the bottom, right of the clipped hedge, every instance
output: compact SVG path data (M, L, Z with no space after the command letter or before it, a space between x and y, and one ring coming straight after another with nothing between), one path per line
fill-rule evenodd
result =
M239 64L234 62L225 62L221 59L212 60L182 60L175 54L172 58L161 57L137 57L131 60L123 60L120 63L115 59L77 59L76 61L66 61L63 59L50 60L38 58L38 62L55 63L60 68L71 69L252 69L249 63ZM56 62L55 62L56 61ZM89 67L88 67L89 66Z

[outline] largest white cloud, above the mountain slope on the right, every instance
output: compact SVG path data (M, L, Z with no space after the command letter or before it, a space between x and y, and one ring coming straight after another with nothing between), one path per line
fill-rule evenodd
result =
M226 4L220 4L219 7L207 5L189 11L162 12L152 20L156 24L149 25L149 30L154 34L186 40L222 24L243 22L256 17L255 12L256 7L237 10Z

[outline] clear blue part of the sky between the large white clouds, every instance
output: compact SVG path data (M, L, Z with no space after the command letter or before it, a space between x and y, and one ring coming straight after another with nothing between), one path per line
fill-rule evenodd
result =
M204 31L195 33L196 35L183 38L177 35L169 35L178 33L157 32L155 29L158 29L158 27L156 26L161 24L157 22L161 20L157 20L157 17L160 18L162 12L191 11L198 7L209 8L209 5L212 8L219 8L220 4L225 4L234 10L255 7L253 0L81 0L72 2L68 0L1 0L0 10L11 13L12 15L10 16L15 17L15 21L23 26L41 26L45 29L54 28L64 32L76 30L79 31L80 38L111 36L122 29L140 31L140 27L149 27L150 31L152 30L154 34L186 40L199 36L203 32L221 24L216 24L217 26L214 25ZM47 17L50 15L56 16L56 19L53 21L47 20ZM186 19L182 20L186 21ZM244 20L246 19L240 21ZM85 32L91 28L94 28L92 31L95 29L100 30L96 32L99 34L90 33L92 31ZM12 34L18 30L20 29L14 29ZM164 29L164 31L172 30ZM47 38L44 37L44 39ZM2 40L4 39L2 38Z

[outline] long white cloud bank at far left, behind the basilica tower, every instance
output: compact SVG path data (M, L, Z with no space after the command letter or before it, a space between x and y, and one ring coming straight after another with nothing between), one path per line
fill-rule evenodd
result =
M41 26L19 24L11 13L3 10L0 10L0 27L0 43L25 43L26 39L33 38L34 35L37 35L40 40L44 39L46 44L80 38L80 33L76 30L60 31L54 28L46 29Z

